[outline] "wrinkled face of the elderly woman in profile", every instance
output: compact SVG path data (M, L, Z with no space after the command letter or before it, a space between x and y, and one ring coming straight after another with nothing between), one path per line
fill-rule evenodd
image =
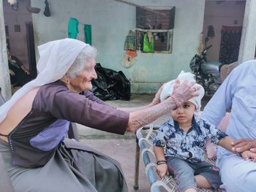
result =
M97 73L94 67L95 59L91 58L76 77L69 79L69 89L76 93L90 90L92 88L91 80L97 79Z

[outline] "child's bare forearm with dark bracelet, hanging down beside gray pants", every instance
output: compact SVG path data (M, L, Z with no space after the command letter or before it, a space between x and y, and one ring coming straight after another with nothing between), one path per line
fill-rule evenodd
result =
M165 175L169 175L167 162L165 160L164 147L154 146L153 149L157 158L157 174L162 179Z

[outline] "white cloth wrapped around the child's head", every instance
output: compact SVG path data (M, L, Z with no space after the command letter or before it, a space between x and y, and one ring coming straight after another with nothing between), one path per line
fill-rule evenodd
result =
M177 79L180 81L181 84L184 82L184 80L187 80L188 83L195 82L195 75L190 72L181 71L181 73L178 74ZM167 99L168 96L170 96L173 93L174 84L175 84L175 80L171 80L165 83L164 87L162 88L162 93L160 94L161 101L164 101L165 99ZM189 99L189 101L195 104L197 112L199 112L201 108L201 99L203 98L205 91L202 85L199 85L197 83L195 83L193 88L200 88L198 91L199 95L193 97L192 99Z

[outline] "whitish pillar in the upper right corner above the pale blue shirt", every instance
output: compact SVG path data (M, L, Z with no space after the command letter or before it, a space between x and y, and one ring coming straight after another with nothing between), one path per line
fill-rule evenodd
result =
M246 0L244 24L238 55L238 64L255 58L256 45L256 1Z

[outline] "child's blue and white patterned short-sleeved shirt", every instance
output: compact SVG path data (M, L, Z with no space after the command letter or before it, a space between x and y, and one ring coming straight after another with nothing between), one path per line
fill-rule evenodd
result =
M194 115L192 127L184 132L176 120L167 120L157 131L153 145L165 147L165 156L176 156L190 162L204 161L206 140L217 144L227 134L216 126Z

